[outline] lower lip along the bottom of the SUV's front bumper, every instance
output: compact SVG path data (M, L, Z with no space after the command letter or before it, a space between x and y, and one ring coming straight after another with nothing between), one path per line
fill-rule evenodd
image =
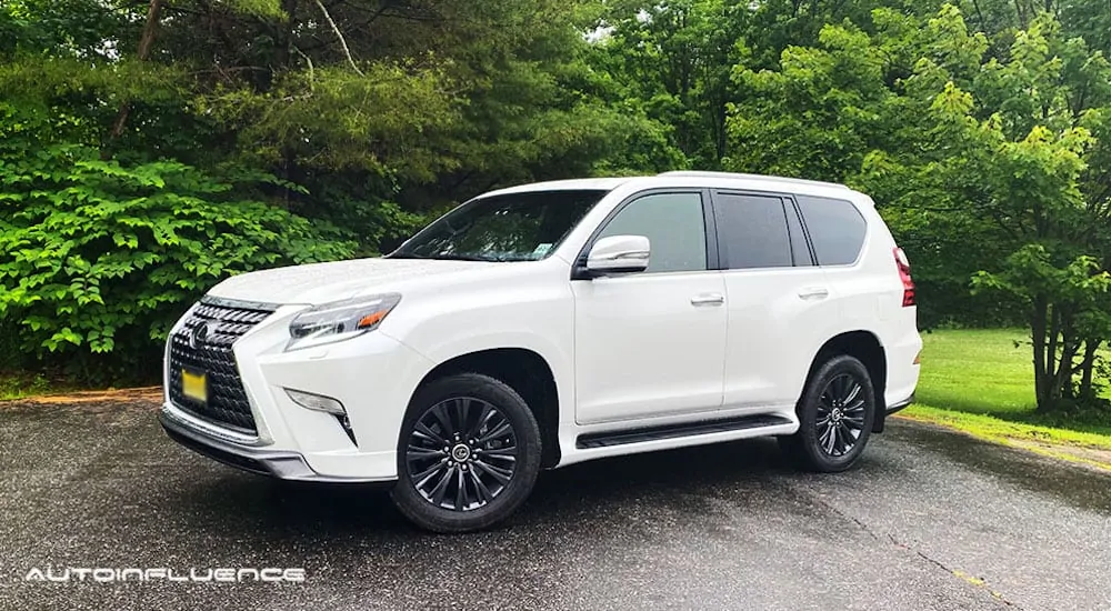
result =
M393 478L339 478L317 473L298 452L268 450L242 445L208 434L193 425L186 417L177 413L172 405L164 405L158 414L162 429L170 439L190 450L259 475L269 475L282 480L314 482L386 482Z

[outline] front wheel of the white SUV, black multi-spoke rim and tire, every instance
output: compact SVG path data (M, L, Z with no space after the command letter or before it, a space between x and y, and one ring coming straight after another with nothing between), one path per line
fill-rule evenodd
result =
M540 457L540 427L517 391L479 373L440 378L409 404L390 495L422 529L483 530L528 499Z

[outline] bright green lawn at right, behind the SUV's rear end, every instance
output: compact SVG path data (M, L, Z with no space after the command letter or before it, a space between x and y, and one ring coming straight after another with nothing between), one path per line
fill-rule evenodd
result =
M917 402L904 417L993 441L1111 450L1111 419L1065 420L1034 411L1025 330L943 330L922 340Z

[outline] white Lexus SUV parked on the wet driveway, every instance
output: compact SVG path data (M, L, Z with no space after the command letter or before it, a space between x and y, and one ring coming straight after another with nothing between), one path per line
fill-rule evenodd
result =
M541 469L760 435L860 457L919 377L909 263L868 196L713 172L483 194L393 253L229 278L173 327L160 420L289 480L390 482L434 531Z

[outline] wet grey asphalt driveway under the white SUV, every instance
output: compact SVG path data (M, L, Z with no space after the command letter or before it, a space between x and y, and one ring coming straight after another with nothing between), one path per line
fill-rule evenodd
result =
M1111 475L907 422L838 475L770 440L584 463L443 537L194 455L154 409L0 403L0 609L1111 609ZM306 578L27 581L67 567Z

